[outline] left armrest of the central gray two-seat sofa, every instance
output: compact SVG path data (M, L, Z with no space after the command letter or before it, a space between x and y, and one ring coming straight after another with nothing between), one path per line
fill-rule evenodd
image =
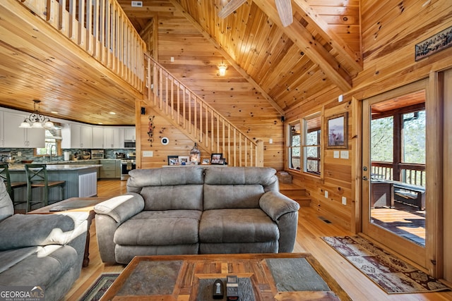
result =
M97 214L108 215L119 224L143 211L143 209L143 197L134 192L129 192L119 197L112 197L94 207L94 211Z

